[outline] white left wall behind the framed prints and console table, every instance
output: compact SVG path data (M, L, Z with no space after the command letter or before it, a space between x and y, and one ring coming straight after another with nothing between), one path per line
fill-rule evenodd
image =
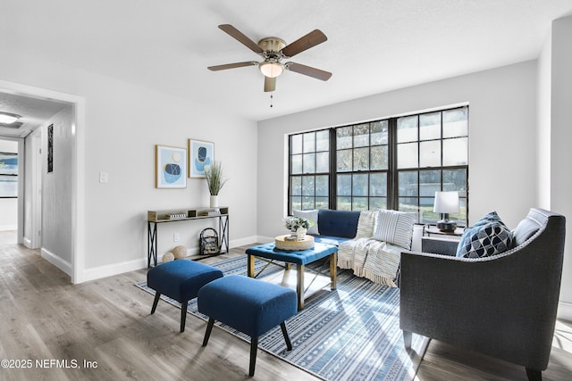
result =
M186 147L189 138L214 142L214 155L230 178L220 194L229 206L231 246L256 240L257 125L224 110L165 95L61 62L43 60L33 52L16 53L0 61L6 81L85 100L82 134L85 149L78 154L85 177L85 200L78 224L85 241L76 253L83 259L79 281L147 266L147 210L192 207L208 203L204 179L188 179L185 189L155 188L155 145ZM199 88L189 88L189 92ZM99 172L109 182L98 182ZM48 201L49 202L49 201ZM172 232L181 244L198 246L205 225L180 222L159 228L159 256L170 249ZM176 226L176 227L175 227ZM81 261L80 261L81 263Z

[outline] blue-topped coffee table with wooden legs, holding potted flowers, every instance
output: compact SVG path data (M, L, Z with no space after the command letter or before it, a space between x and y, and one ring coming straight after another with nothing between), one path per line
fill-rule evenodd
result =
M330 289L336 289L336 275L337 275L337 257L338 247L332 244L315 243L314 248L300 251L286 251L276 249L276 245L272 244L259 244L257 246L249 247L246 251L248 254L248 277L256 277L254 273L255 258L261 258L270 261L283 261L285 268L288 270L292 264L296 265L297 279L296 279L296 294L298 294L298 310L304 309L304 270L308 263L330 258Z

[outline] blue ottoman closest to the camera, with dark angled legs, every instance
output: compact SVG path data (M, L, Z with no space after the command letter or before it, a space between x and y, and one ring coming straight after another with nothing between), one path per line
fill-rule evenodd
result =
M298 305L296 292L290 288L240 275L222 277L198 291L198 311L209 318L203 346L214 320L250 336L250 377L254 376L259 336L280 324L286 347L292 349L284 321L296 315Z

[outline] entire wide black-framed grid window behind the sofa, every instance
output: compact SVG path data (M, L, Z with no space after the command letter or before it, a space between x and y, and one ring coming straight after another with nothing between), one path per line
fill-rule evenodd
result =
M431 223L435 191L456 190L467 221L468 107L290 136L290 212L415 211Z

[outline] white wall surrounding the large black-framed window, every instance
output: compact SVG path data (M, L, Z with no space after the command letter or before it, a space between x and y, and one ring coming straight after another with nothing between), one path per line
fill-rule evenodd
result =
M469 104L469 223L496 210L510 227L536 206L536 62L522 62L258 123L258 234L282 230L286 134ZM284 149L276 149L284 147Z

